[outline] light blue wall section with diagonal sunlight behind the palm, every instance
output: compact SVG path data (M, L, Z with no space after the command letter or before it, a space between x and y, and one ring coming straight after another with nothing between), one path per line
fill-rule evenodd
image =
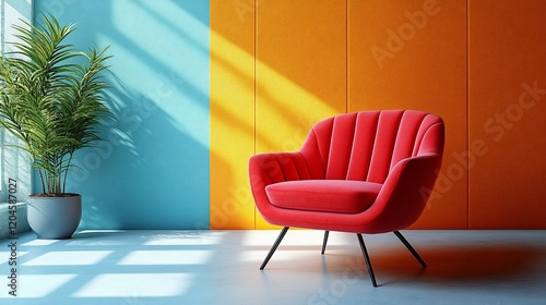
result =
M110 46L108 142L78 154L81 229L209 228L209 1L35 2L71 42ZM37 190L39 191L39 190Z

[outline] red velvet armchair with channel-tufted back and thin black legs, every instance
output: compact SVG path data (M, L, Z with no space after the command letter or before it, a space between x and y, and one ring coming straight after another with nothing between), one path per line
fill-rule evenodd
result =
M415 110L363 111L317 123L299 151L260 154L250 184L263 218L284 227L260 269L290 227L356 233L377 286L363 233L393 232L425 268L399 230L419 218L436 183L443 121Z

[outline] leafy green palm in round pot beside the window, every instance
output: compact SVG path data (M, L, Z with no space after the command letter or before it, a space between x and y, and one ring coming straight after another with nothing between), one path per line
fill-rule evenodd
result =
M72 158L99 141L111 118L104 103L108 87L107 48L74 49L64 41L73 24L43 15L41 25L13 26L20 39L0 57L0 123L31 156L41 193L28 197L28 224L38 239L69 239L80 224L81 195L66 192Z

